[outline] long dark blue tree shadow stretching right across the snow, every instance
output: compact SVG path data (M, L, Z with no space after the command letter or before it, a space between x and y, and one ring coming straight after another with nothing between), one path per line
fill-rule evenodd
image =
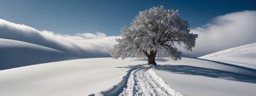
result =
M188 65L157 65L155 70L164 70L175 74L184 75L199 75L204 77L212 77L218 79L226 79L231 81L241 81L247 83L256 83L256 77L241 75L224 70L217 70L212 68L201 68L197 66Z

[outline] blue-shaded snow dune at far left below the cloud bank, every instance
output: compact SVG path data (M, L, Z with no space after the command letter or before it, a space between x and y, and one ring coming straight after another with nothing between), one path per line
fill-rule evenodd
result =
M72 58L53 48L0 38L0 70Z

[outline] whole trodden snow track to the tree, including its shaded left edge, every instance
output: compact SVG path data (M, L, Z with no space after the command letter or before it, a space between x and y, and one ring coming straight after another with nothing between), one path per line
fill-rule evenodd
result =
M154 67L154 66L153 66ZM102 95L168 95L180 96L181 93L170 89L152 70L152 66L131 66L123 81Z

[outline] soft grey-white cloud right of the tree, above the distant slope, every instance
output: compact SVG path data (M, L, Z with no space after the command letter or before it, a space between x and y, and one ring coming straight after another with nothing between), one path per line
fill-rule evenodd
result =
M240 11L216 17L203 28L192 29L198 34L192 56L256 42L256 11ZM187 54L187 52L185 52Z

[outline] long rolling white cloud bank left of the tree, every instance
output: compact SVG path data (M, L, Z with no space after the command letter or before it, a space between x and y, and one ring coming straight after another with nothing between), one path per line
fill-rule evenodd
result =
M0 38L30 42L61 50L74 56L89 58L109 56L109 52L115 44L115 38L120 38L120 36L106 36L100 32L74 36L54 34L0 19Z

